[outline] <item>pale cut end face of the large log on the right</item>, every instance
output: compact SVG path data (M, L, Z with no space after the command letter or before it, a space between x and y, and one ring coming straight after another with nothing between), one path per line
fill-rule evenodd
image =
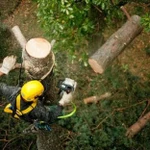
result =
M102 66L98 64L96 60L89 58L88 63L90 64L94 72L99 73L99 74L102 74L104 72L104 69L102 68Z

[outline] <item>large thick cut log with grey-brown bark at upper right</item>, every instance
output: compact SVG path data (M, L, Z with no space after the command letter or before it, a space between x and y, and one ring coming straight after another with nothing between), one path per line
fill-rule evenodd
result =
M138 36L143 30L140 17L131 18L89 58L88 62L94 72L102 74L112 61Z

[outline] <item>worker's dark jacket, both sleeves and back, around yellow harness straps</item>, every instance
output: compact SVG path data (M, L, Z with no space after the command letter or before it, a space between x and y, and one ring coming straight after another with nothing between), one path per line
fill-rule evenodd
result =
M5 83L0 83L0 96L5 97L12 108L15 108L15 100L20 92L20 87L8 86ZM30 103L21 101L21 109L26 109ZM39 100L36 107L29 113L21 116L21 119L33 123L34 120L45 121L46 123L53 123L57 120L57 117L62 115L63 107L56 105L54 107L46 107Z

